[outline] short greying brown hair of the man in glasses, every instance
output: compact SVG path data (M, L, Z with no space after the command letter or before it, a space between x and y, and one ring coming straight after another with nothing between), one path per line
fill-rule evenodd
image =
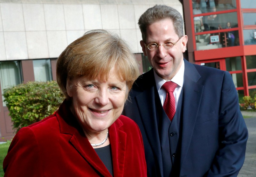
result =
M139 18L139 28L142 34L142 40L145 42L146 40L146 29L147 27L160 20L171 19L173 22L173 26L176 34L179 37L182 37L183 34L183 25L184 20L181 14L174 8L166 6L166 5L155 5L149 9L147 9Z

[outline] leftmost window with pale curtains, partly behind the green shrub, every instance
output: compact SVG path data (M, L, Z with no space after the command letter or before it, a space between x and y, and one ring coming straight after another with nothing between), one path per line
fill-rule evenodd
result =
M0 81L1 92L8 87L18 85L22 82L20 61L1 61L0 62ZM3 97L4 101L4 97ZM3 103L5 106L5 103Z

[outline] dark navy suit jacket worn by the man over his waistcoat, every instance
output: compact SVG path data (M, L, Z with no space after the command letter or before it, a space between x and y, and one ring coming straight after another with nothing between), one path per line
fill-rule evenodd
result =
M179 176L237 176L248 131L232 77L227 71L184 62L180 169L176 170ZM153 70L141 75L123 114L140 127L148 176L163 176L155 87Z

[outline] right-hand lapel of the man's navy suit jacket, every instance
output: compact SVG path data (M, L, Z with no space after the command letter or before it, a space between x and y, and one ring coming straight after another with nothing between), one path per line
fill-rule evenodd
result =
M186 158L188 148L193 135L193 130L196 122L196 117L201 103L203 85L198 84L200 74L195 69L194 65L185 62L184 73L184 97L183 97L183 125L181 138L181 167Z

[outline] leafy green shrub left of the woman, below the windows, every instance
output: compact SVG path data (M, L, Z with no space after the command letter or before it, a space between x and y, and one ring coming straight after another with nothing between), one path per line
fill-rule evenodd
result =
M19 84L3 95L16 132L53 114L64 100L56 81Z

